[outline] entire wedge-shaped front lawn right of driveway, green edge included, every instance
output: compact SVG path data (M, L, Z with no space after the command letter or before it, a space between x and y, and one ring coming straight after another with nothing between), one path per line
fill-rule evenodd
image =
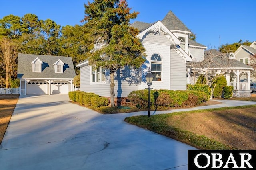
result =
M256 105L134 116L128 123L198 149L255 149Z

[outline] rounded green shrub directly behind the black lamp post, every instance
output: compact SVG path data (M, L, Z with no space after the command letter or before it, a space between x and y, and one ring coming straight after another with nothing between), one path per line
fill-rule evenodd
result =
M155 90L150 90L150 107L154 107L154 92ZM156 96L156 94L155 94ZM136 90L128 94L128 99L131 104L136 106L138 109L148 108L148 90Z

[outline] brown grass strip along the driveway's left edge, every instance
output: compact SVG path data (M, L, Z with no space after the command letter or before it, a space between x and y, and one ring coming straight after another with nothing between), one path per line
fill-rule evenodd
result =
M0 144L18 102L18 94L0 95Z

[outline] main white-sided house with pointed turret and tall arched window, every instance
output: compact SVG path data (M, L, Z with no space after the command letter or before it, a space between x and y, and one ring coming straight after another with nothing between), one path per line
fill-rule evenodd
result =
M152 88L186 90L187 62L202 61L206 47L188 39L190 30L172 11L162 21L152 24L136 21L131 27L140 31L138 38L146 49L146 62L139 70L124 68L116 72L116 104L125 103L130 92L148 88L145 79L148 68L154 75ZM95 46L94 49L97 48L100 47ZM79 63L77 67L80 67L81 91L110 98L108 70L95 70L88 60Z

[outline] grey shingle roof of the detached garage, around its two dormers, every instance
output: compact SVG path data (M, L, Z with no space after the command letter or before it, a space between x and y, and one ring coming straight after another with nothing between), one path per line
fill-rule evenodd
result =
M32 72L31 62L40 59L42 64L42 72ZM65 65L63 73L55 73L54 63L60 59ZM34 55L34 54L18 54L18 78L74 78L76 76L74 65L71 57L51 56L51 55Z

